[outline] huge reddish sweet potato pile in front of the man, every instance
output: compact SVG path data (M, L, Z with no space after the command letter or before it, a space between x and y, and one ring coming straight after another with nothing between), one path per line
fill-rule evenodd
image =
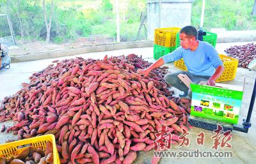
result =
M132 163L136 151L153 149L163 124L178 144L190 101L170 96L163 68L136 73L136 60L143 61L134 54L53 61L4 98L0 121L17 121L7 131L19 138L54 134L61 163Z

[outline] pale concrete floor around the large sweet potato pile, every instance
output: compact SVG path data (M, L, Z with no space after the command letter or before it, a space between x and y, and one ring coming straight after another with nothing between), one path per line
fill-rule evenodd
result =
M242 43L219 43L216 45L216 49L219 54L225 54L225 48L230 47L231 45L244 45L247 42ZM81 54L84 58L95 58L102 59L106 54L108 56L120 56L127 54L137 54L142 55L143 58L147 59L150 62L154 62L153 59L153 48L130 48L124 50L112 50L108 52L95 52L88 54ZM69 57L59 57L56 59L67 59L76 56ZM40 71L45 68L48 64L51 64L51 61L55 59L44 59L40 61L28 61L23 63L13 63L11 64L10 70L1 70L0 71L0 100L4 96L12 95L20 89L20 84L22 82L28 82L28 77L36 71ZM174 67L173 63L168 63L166 66L169 66L170 71L178 71ZM243 94L243 104L241 106L241 112L239 116L239 124L242 123L243 119L246 119L248 112L248 107L250 105L250 98L252 96L252 89L254 80L256 77L255 71L249 71L243 68L237 69L236 79L223 82L225 84L236 84L243 86L244 85L244 94ZM159 163L256 163L256 128L255 128L255 119L256 119L256 104L253 108L252 113L252 128L250 128L248 133L241 133L239 131L233 131L232 141L229 142L232 145L232 149L219 149L218 151L231 151L232 158L162 158ZM12 124L12 123L1 123L1 124ZM0 126L1 126L0 124ZM203 146L198 146L196 144L196 135L204 131L205 141ZM174 146L172 151L195 151L200 149L200 151L213 151L211 149L213 140L212 136L214 133L212 131L203 130L200 128L191 128L189 135L187 136L190 139L190 144L188 147L177 147ZM13 136L12 133L0 133L0 144L3 144L5 140L9 138L17 138ZM147 153L139 153L135 163L150 163L150 160L153 156L153 151Z

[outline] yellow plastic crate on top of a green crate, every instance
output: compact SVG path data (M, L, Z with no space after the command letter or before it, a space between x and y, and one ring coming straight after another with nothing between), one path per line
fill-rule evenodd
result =
M154 43L163 47L175 47L176 34L179 33L179 27L155 29Z

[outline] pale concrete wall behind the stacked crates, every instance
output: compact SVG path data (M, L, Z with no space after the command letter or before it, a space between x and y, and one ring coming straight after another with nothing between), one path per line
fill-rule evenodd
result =
M194 0L162 0L161 26L184 27L191 24L191 6ZM148 39L154 40L154 30L159 28L159 1L148 1Z

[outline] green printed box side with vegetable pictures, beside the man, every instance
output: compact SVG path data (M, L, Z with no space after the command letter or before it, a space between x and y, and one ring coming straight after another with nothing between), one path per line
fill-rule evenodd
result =
M228 89L232 88L232 89ZM237 124L243 87L212 87L191 84L191 115Z

